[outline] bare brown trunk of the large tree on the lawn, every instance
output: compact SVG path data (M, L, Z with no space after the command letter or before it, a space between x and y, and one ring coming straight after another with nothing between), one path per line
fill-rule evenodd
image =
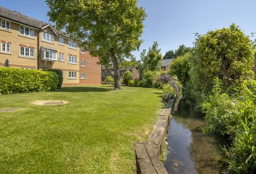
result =
M120 80L119 80L119 78L120 78L119 66L118 66L117 57L114 53L113 48L111 48L109 50L109 56L111 57L111 61L112 61L113 68L114 68L114 89L122 89Z

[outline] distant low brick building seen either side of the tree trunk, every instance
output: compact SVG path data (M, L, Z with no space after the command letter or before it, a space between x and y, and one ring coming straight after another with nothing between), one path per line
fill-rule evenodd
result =
M119 75L120 78L124 77L124 72L126 72L127 70L129 70L132 73L132 79L134 80L135 78L139 78L139 70L137 68L120 68L119 69ZM110 67L110 68L105 68L104 66L102 66L102 81L105 80L106 76L114 76L114 68Z

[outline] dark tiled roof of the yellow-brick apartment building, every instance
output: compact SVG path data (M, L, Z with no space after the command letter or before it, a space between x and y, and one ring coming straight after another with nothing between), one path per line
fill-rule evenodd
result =
M37 28L37 29L43 29L44 27L47 27L47 25L50 25L52 27L51 24L48 24L43 21L39 21L32 17L21 14L20 12L12 11L10 9L6 9L1 6L0 6L0 17L4 17L6 19L19 22L21 24L29 25L29 26ZM57 30L55 27L52 27L52 29L54 29L56 31L57 35L61 35L63 37L70 38L69 35L67 35L65 32L63 32L61 30Z

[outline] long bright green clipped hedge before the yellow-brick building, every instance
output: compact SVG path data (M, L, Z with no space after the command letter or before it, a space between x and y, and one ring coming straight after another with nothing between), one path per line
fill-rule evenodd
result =
M0 94L52 91L58 81L57 74L51 71L0 68Z

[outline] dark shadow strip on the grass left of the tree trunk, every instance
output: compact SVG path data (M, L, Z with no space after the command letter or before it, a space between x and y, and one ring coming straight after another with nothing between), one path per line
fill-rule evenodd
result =
M65 93L89 93L89 92L109 92L113 89L110 88L100 88L100 87L89 87L89 86L65 86L55 92L65 92Z

